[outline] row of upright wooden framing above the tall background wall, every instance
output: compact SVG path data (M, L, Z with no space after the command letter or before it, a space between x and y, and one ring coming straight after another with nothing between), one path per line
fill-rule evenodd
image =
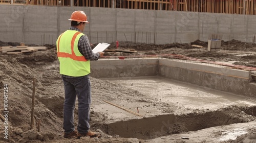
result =
M0 4L10 3L11 0L0 0ZM13 0L13 3L256 15L256 0Z

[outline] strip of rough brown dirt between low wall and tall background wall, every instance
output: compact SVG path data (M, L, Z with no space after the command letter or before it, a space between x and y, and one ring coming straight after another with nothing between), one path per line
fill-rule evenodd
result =
M192 46L201 45L202 48ZM95 44L96 45L96 44ZM120 41L118 49L134 49L138 53L118 53L110 54L105 52L106 56L133 56L133 55L157 55L157 54L175 54L187 57L193 57L209 61L234 61L232 64L256 67L256 43L241 42L238 40L222 41L221 48L214 51L207 50L208 42L196 40L191 43L170 43L170 44L146 44ZM109 49L116 49L116 43L111 43ZM251 52L244 56L237 56L232 53ZM254 53L252 53L254 52Z

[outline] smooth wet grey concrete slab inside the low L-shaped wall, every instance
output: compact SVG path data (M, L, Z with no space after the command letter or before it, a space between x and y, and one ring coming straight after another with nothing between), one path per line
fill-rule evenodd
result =
M248 97L159 76L111 78L108 80L138 90L158 101L177 104L190 109L216 110L230 105L256 106L256 103L250 101ZM133 108L134 111L137 110L129 105L125 107ZM143 113L142 109L140 111ZM176 113L176 111L174 112Z

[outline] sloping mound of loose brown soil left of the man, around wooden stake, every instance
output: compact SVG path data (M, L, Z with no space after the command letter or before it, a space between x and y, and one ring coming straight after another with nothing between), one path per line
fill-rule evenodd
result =
M19 63L15 58L1 57L0 77L3 84L8 84L8 126L11 138L9 141L22 139L23 137L19 135L30 130L33 77L36 77L37 87L34 107L35 123L40 118L41 131L57 136L56 133L61 130L62 122L46 105L38 100L39 97L44 96L45 91L42 90L46 90L43 83L41 83L43 79L41 79L40 74L29 66ZM3 88L0 91L4 92ZM49 127L51 127L50 131ZM30 132L24 136L29 136L33 133ZM17 136L17 134L19 135ZM46 134L41 134L41 140L43 140L44 136ZM4 140L3 131L1 131L1 140Z

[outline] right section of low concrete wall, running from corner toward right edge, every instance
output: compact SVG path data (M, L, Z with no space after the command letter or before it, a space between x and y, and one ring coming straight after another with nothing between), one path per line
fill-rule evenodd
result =
M159 76L246 96L250 71L159 59Z

